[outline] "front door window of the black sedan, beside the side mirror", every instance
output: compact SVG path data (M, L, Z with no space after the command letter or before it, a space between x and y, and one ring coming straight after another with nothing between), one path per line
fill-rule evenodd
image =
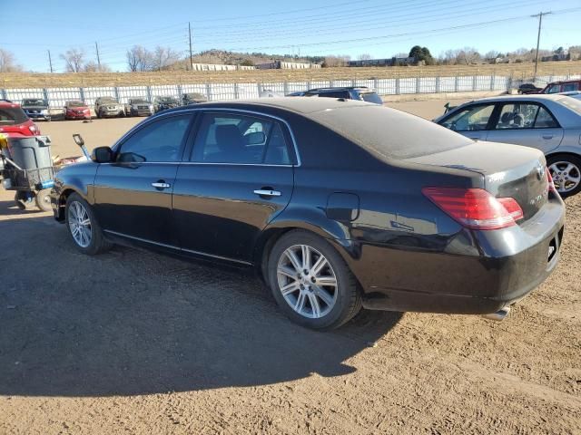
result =
M182 142L192 118L172 116L137 131L121 145L119 163L172 162L180 160Z

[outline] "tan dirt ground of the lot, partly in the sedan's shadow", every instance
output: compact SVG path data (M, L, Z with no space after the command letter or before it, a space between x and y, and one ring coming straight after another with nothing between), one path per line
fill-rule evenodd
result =
M135 121L41 127L67 154L73 132L111 144ZM581 433L581 196L566 204L560 265L503 322L363 312L314 333L251 276L83 256L0 190L0 434Z

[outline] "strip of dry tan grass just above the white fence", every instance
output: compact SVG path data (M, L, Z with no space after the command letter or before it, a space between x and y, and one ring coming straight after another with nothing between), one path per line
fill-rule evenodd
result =
M313 70L252 70L223 72L165 71L156 73L5 73L0 87L48 88L78 86L159 85L205 82L305 82L341 79L389 79L397 77L434 77L455 75L512 75L515 79L533 76L533 63L502 65L402 66L369 68L321 68ZM581 73L581 61L540 63L538 75Z

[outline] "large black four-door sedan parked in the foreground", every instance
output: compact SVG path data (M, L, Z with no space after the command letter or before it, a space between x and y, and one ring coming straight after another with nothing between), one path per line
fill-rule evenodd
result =
M163 111L62 169L52 201L85 254L253 267L314 329L361 306L501 319L555 268L565 222L539 150L328 98Z

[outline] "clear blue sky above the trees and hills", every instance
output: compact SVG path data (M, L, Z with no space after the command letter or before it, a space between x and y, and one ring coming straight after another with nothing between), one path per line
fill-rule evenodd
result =
M576 9L557 13L568 9ZM15 54L27 70L48 71L47 50L56 72L59 53L84 49L113 71L125 71L125 51L134 44L170 46L186 53L188 21L193 51L224 50L311 55L369 53L374 58L409 52L414 44L438 55L476 47L507 52L537 43L536 18L543 21L541 47L581 45L580 0L97 0L48 2L0 0L0 48Z

